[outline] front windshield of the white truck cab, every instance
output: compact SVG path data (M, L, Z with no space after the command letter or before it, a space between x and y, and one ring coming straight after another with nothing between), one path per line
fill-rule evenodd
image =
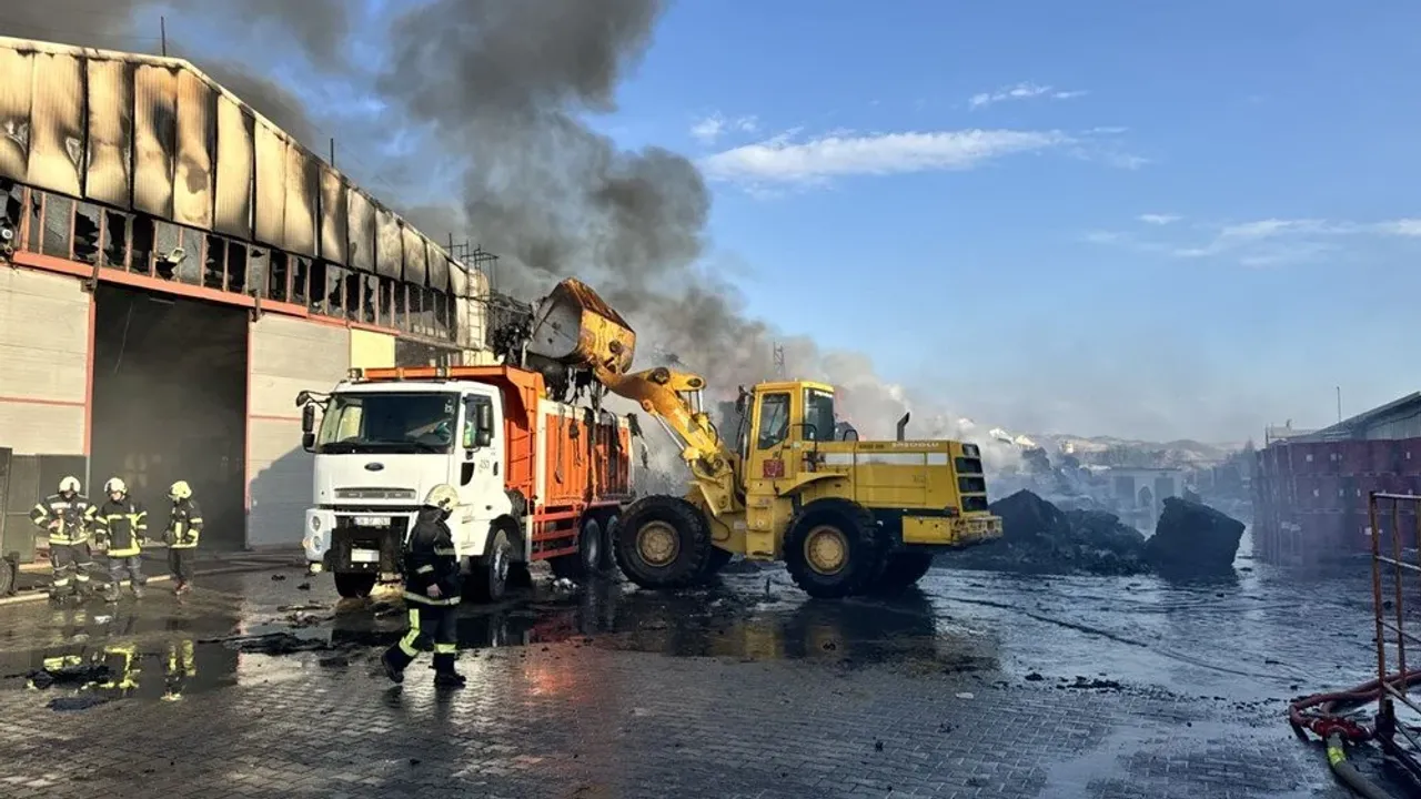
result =
M315 452L429 452L453 444L459 395L446 392L335 394L321 418Z

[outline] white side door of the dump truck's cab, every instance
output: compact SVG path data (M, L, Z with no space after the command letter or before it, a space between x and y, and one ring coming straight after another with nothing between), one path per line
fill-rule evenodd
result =
M455 485L460 509L450 522L456 537L480 533L507 508L503 493L503 407L496 392L466 391L459 422ZM453 525L450 525L453 526ZM472 532L472 533L470 533ZM460 547L462 549L462 547Z

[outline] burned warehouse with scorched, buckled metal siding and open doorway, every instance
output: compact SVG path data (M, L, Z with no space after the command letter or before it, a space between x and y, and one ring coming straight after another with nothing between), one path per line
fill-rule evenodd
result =
M183 479L205 546L291 545L298 391L487 361L483 259L190 63L0 37L0 552L65 475Z

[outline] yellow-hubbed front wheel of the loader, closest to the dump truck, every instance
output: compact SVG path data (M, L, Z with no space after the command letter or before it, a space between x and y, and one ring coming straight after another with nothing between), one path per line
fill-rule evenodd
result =
M617 567L642 589L681 589L705 573L715 547L699 508L679 496L654 495L634 502L617 522Z

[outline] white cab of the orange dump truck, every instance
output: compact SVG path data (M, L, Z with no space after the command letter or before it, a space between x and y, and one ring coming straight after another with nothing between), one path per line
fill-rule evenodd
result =
M482 559L495 522L514 516L502 475L499 388L351 378L324 400L303 397L301 444L315 463L301 543L311 570L330 570L341 596L365 596L381 576L398 574L404 542L435 485L459 490L448 523L462 560Z

